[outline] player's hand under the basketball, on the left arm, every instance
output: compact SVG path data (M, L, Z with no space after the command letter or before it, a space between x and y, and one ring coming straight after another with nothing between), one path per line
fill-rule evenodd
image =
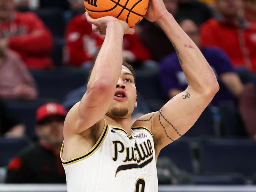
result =
M134 27L130 28L128 23L118 20L115 17L107 16L99 19L92 19L88 12L85 12L88 23L92 24L92 30L94 32L100 32L100 35L106 35L107 26L113 22L120 24L124 30L124 34L133 35L135 33Z

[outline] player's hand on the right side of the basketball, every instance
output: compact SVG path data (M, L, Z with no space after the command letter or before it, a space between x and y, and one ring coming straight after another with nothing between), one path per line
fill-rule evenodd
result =
M164 14L170 14L163 0L149 0L148 11L144 16L147 20L153 22L161 18Z

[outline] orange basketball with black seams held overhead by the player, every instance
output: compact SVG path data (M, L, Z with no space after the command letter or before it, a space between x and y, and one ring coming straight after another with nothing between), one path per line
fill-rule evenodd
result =
M148 0L84 0L85 10L93 19L113 16L134 27L148 9Z

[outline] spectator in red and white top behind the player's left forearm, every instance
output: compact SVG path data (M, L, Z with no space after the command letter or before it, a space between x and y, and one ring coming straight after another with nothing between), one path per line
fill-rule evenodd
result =
M87 22L85 15L80 14L69 22L65 39L67 45L66 62L80 67L95 58L103 44L104 36L92 32L92 27ZM149 60L150 55L136 35L124 35L123 59L134 66Z

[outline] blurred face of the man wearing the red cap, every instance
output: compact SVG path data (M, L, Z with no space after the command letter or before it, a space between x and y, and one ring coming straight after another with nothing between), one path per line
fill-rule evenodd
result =
M41 124L36 125L36 134L39 139L46 141L49 145L61 144L63 141L63 126L63 117L47 117Z

